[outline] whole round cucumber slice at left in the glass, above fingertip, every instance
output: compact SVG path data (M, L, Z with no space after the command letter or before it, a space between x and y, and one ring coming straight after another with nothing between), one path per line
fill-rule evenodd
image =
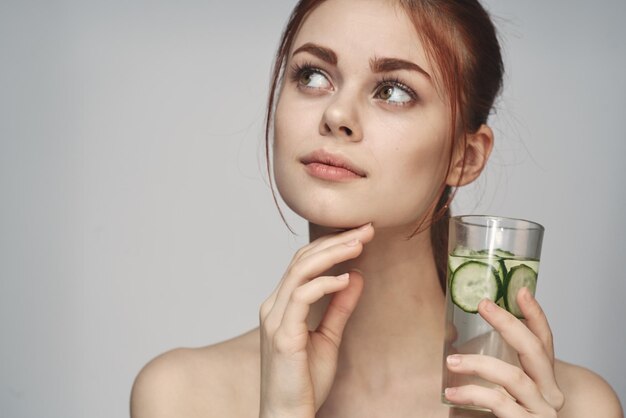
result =
M501 292L496 269L481 261L468 261L459 266L450 281L452 301L465 312L478 312L483 299L496 301Z

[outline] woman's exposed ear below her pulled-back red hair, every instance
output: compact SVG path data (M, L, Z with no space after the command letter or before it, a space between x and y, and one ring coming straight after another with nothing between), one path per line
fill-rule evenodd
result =
M465 147L463 147L465 145ZM457 144L446 179L448 186L465 186L476 180L485 168L493 149L493 131L481 125L472 134L466 134L466 142Z

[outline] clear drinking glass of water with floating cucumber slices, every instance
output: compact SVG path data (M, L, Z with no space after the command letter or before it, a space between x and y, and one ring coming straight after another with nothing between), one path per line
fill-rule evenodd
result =
M476 308L482 299L489 298L522 317L516 295L523 287L535 293L543 231L543 226L521 219L479 215L450 219L443 403L482 409L452 404L444 390L468 384L496 386L476 376L450 372L445 364L448 355L484 354L519 365L515 350L476 313Z

